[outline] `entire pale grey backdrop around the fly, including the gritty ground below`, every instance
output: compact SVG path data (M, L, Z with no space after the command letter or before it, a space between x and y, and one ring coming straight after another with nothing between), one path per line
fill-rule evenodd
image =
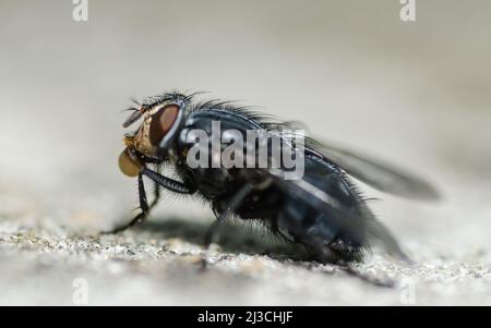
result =
M81 276L89 304L400 304L398 290L240 247L218 245L199 275L185 258L200 243L158 229L87 241L137 204L117 168L121 110L179 89L300 120L432 181L436 204L362 187L419 266L375 254L361 269L410 277L416 304L491 304L491 3L416 3L403 22L396 0L89 0L75 22L72 1L2 0L0 303L71 304ZM169 218L213 215L166 195L152 220Z

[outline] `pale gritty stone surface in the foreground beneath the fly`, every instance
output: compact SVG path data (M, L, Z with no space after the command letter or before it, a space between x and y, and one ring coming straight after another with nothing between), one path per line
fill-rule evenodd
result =
M397 281L380 288L333 266L298 260L286 246L239 228L207 253L196 245L205 224L170 221L121 235L2 224L2 304L73 304L76 279L88 304L489 304L487 254L466 262L429 256L405 267L375 256L357 271ZM165 229L167 228L167 229ZM165 230L164 230L165 229ZM165 232L163 232L165 231ZM230 240L233 239L233 240ZM244 242L240 247L237 241ZM295 260L283 254L294 255ZM268 252L268 255L258 255ZM280 253L278 253L280 252ZM419 248L418 253L431 254ZM207 260L202 268L202 258ZM488 257L489 258L489 257ZM75 300L75 301L73 301Z

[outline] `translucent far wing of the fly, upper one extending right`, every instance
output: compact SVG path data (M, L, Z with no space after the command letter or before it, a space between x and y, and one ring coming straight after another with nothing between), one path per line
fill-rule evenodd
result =
M414 198L435 201L438 191L423 179L367 155L309 139L312 148L344 169L349 175L386 193Z

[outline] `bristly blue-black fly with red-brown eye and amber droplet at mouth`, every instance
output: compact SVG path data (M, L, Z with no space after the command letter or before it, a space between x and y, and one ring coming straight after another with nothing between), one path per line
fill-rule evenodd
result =
M273 233L304 246L320 263L362 260L372 242L379 242L388 254L407 259L388 230L375 219L349 175L400 196L438 197L424 181L366 156L308 137L299 142L278 136L277 131L291 133L296 127L230 102L197 102L195 95L167 93L147 98L141 105L136 102L130 110L133 112L123 126L140 120L142 123L136 132L124 136L125 149L119 166L124 174L137 178L141 212L115 232L143 221L157 204L163 189L200 195L211 204L217 220L205 235L206 246L213 242L220 224L233 216L241 220L259 220ZM220 126L218 135L216 123ZM251 131L259 132L263 138L252 142L253 151L250 151L251 143L247 138ZM272 136L280 143L275 144ZM205 143L204 138L207 138ZM230 145L219 143L216 146L214 141L217 138L247 139L230 156L235 166L224 162L217 166L213 150L223 155ZM266 166L258 166L261 145L267 148L262 153L266 156ZM279 167L273 169L271 166L276 154L287 150L295 155L292 158L301 160L298 177L287 178L294 172L291 166L282 160ZM201 151L200 156L196 151ZM163 165L172 167L179 179L160 174ZM151 204L143 177L158 186Z

